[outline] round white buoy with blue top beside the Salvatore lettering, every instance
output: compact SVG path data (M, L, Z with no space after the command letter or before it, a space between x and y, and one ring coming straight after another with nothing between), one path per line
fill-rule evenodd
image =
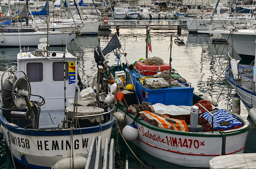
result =
M129 125L126 125L122 133L123 133L124 139L126 139L127 141L132 141L136 139L137 136L139 135L139 131L137 126L135 125L135 121L133 121Z

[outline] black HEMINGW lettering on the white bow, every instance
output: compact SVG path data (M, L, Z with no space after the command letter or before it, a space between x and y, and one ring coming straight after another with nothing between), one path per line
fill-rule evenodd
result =
M80 147L84 148L88 146L88 139L84 138L81 141L79 139L74 140L74 149L79 149ZM81 144L81 145L80 145ZM69 140L37 140L38 150L70 150Z

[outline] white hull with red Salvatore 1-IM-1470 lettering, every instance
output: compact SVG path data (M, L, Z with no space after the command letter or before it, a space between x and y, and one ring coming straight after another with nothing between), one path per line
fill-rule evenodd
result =
M126 115L126 122L123 126L132 123L132 121L133 119ZM168 131L160 132L152 129L153 125L149 125L150 128L148 128L138 122L135 124L139 130L139 135L132 142L149 154L167 162L190 167L209 167L210 159L222 155L222 137L219 131L214 131L214 133L182 131L168 133ZM244 126L233 129L237 134L225 137L226 154L243 153L248 128L242 133L239 133L238 130L245 129L248 125L249 122L246 121ZM222 132L226 134L232 131Z

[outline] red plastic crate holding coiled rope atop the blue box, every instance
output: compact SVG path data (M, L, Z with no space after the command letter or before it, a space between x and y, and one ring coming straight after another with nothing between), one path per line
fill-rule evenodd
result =
M153 71L158 71L159 67L160 67L160 71L169 70L170 65L167 63L164 63L163 65L147 65L147 64L143 64L142 61L138 61L136 62L135 67L137 70L142 71L141 74L143 75L153 75L153 74L156 74L156 72L153 72ZM150 71L143 71L143 70L150 70Z

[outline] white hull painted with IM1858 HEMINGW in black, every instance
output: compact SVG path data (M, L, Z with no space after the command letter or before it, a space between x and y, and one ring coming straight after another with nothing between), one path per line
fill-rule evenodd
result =
M8 129L5 128L3 125L2 127L4 130L7 146L10 149L7 134ZM105 140L106 138L110 140L111 130L112 127L101 131L100 135L102 136L102 140ZM70 133L70 130L66 131ZM77 132L77 134L73 134L73 142L71 142L70 135L58 135L61 131L55 132L57 135L50 136L26 135L12 131L9 132L11 136L12 153L14 155L14 158L23 164L25 164L26 159L26 163L28 166L36 165L41 166L42 168L50 168L58 160L69 157L70 154L72 154L69 146L73 147L74 156L79 155L87 157L92 137L93 135L98 135L97 132L84 134L80 134ZM45 132L47 131L44 131L44 133ZM105 144L102 143L102 156L104 153L104 147ZM25 158L24 155L21 155L22 153L25 153Z

